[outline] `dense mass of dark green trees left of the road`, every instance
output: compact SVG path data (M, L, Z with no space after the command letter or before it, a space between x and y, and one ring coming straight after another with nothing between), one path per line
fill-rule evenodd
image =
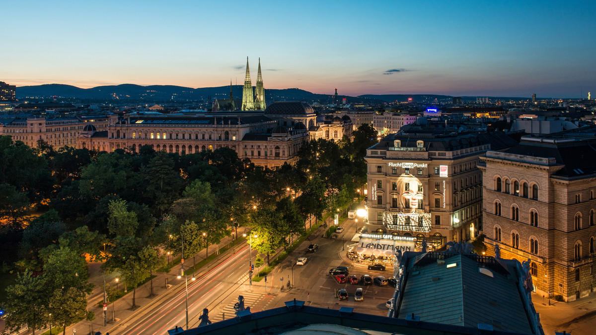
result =
M35 328L92 317L86 308L75 308L69 319L59 319L52 309L58 295L35 298L44 308L38 315L48 315L38 323L23 316L26 304L11 304L35 281L60 283L48 267L54 266L54 253L75 252L77 257L71 255L73 263L61 273L74 273L86 283L65 283L61 295L75 289L72 295L84 299L90 292L84 255L91 255L134 289L135 308L136 286L163 265L163 252L181 253L182 240L185 255L194 258L229 236L230 227L237 237L237 228L248 226L258 236L253 248L259 253L269 255L287 246L291 236L304 232L307 217L321 218L325 210L345 205L364 185L364 153L375 141L374 130L364 125L355 139L313 140L302 146L296 164L269 169L238 159L228 148L188 155L149 146L139 152L53 151L43 142L29 148L0 136L0 191L7 195L0 198L0 239L11 237L13 243L0 246L0 256L20 271L7 290L7 323ZM27 180L13 178L21 170L27 170ZM32 219L27 214L33 207L51 210Z

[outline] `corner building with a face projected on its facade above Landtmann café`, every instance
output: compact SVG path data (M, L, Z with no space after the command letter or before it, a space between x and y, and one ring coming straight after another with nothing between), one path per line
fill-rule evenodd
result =
M429 249L468 240L482 227L482 176L488 150L516 141L501 132L448 133L416 126L367 149L368 231L417 237Z

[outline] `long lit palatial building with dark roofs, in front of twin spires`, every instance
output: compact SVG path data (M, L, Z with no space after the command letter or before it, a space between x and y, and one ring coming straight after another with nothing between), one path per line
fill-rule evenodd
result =
M340 132L340 133L339 133ZM80 134L80 148L114 151L149 145L154 150L193 154L230 148L240 159L263 167L293 163L302 143L316 138L352 134L349 118L317 123L312 107L303 102L275 102L257 112L210 114L111 115L104 132L88 127Z

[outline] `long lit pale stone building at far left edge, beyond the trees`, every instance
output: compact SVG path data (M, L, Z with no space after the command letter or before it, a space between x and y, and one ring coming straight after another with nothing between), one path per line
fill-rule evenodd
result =
M77 147L77 137L85 126L93 125L95 130L107 129L106 115L76 117L28 117L14 118L7 124L0 124L0 134L10 135L33 148L38 140L44 140L54 149L62 146Z

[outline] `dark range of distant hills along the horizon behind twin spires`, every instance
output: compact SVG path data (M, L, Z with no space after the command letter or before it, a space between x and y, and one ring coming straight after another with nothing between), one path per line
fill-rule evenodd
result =
M242 98L242 85L232 86L234 98ZM329 104L333 102L333 95L316 94L302 89L265 89L268 103L273 101L306 101ZM17 87L17 98L45 99L52 96L71 99L90 100L145 100L150 102L173 102L173 101L207 101L209 98L229 98L229 86L191 87L172 85L151 85L140 86L135 84L121 84L111 86L97 86L89 89L82 89L76 86L64 84L44 84L37 86ZM386 94L386 95L360 95L360 96L337 96L339 102L346 99L346 104L382 104L383 102L407 102L412 98L413 102L451 102L449 95L425 95L425 94ZM523 98L492 98L501 100L523 99ZM476 101L475 96L463 96L463 101Z

